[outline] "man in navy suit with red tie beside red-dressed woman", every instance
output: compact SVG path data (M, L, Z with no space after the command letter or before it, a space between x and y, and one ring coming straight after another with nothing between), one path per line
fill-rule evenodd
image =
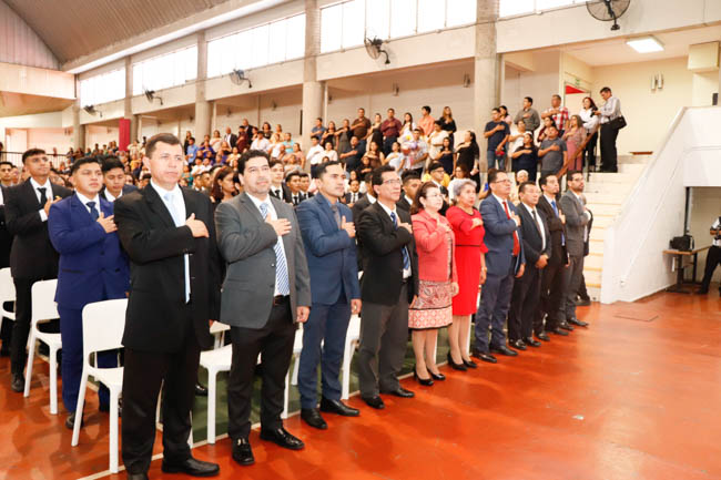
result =
M480 204L488 247L486 283L480 292L480 306L476 315L476 343L474 356L495 364L492 354L515 357L518 355L506 345L504 324L510 307L514 277L524 275L526 259L521 242L520 217L516 206L508 200L510 180L506 172L488 171L490 195ZM490 339L488 327L490 326Z

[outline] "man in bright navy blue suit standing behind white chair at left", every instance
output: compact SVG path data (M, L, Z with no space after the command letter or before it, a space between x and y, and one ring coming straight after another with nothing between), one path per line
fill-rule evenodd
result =
M60 254L55 302L62 338L62 401L70 412L65 427L75 422L83 364L82 309L85 305L125 298L130 284L128 258L120 247L113 204L99 195L103 186L100 162L77 160L71 167L75 194L52 204L48 232ZM99 367L113 367L113 353L98 356ZM108 411L109 392L101 385L100 410Z

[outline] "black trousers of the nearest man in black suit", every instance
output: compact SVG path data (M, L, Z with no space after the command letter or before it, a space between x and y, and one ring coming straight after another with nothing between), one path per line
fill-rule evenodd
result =
M191 325L179 351L141 351L125 348L123 371L122 457L129 473L143 473L150 467L155 441L155 408L161 384L163 400L163 457L180 462L191 457L191 410L201 347Z

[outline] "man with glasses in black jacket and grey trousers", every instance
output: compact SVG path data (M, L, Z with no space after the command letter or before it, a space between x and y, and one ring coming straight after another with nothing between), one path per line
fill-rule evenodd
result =
M363 324L358 350L360 398L385 408L378 394L410 398L398 382L408 341L408 305L418 292L418 254L410 215L396 207L400 178L384 165L373 171L377 202L360 213Z

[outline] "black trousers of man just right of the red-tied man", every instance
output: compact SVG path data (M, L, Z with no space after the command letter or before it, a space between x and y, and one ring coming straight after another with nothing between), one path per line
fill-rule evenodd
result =
M538 334L544 330L544 319L537 315L541 272L536 265L527 263L524 276L514 282L508 315L508 339L510 341L531 337L534 330Z

